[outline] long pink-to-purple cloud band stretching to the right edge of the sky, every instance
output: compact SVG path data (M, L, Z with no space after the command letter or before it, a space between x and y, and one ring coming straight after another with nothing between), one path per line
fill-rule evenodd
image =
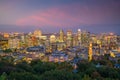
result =
M114 2L106 5L68 4L36 11L30 16L16 21L17 25L33 26L76 26L81 24L116 24L119 21L119 4ZM114 16L116 14L116 16ZM116 21L116 22L115 22Z

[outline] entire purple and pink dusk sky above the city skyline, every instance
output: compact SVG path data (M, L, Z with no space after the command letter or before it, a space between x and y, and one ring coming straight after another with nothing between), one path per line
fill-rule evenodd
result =
M120 33L120 0L0 0L0 31Z

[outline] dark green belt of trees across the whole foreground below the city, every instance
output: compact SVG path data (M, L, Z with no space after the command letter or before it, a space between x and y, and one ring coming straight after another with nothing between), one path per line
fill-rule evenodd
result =
M9 60L9 59L8 59ZM73 66L68 62L52 63L40 60L20 62L16 65L1 57L0 80L119 80L120 69L106 59L98 61L82 60L77 64L78 73L72 73ZM96 67L97 63L102 64ZM110 66L112 65L112 66ZM6 74L3 74L3 73Z

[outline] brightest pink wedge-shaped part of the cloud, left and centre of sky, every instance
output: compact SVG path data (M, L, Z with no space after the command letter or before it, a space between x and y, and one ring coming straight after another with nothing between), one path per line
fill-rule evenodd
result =
M60 9L52 8L34 15L19 19L17 25L35 26L70 26L75 18Z

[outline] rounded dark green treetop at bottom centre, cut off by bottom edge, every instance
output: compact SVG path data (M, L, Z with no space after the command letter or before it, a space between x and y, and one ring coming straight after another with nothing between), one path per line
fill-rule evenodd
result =
M81 77L77 74L73 74L66 71L52 70L47 71L41 76L42 80L81 80Z

